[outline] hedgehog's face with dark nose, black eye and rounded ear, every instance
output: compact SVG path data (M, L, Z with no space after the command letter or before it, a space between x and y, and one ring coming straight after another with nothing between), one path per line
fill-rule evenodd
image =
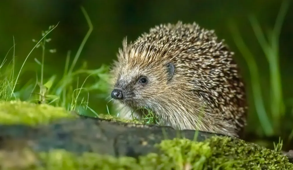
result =
M124 65L120 66L118 72L111 97L129 106L151 107L158 100L157 92L167 88L175 66L172 63L144 67ZM159 94L159 97L162 96Z

